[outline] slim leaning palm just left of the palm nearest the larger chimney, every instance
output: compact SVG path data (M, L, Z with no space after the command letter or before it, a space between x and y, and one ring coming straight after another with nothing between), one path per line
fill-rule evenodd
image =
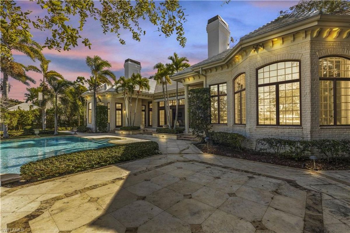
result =
M164 102L165 102L165 112L167 115L167 121L169 129L171 128L171 122L170 122L170 107L169 107L169 95L168 95L168 88L167 85L171 83L170 81L170 74L171 70L170 67L159 62L154 65L153 69L157 69L157 73L153 76L154 80L157 81L158 84L162 84L163 88L163 96L164 96ZM167 94L167 95L166 95ZM168 98L166 98L168 96Z

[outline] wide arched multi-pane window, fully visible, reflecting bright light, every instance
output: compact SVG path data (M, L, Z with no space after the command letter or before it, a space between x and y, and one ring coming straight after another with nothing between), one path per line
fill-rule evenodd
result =
M257 70L259 125L301 125L299 63L282 61Z

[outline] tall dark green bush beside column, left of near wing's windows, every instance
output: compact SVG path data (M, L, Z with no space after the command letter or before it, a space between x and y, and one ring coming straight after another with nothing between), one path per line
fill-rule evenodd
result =
M209 131L211 129L210 89L190 89L188 95L190 128L193 135L203 140L205 136L209 136Z

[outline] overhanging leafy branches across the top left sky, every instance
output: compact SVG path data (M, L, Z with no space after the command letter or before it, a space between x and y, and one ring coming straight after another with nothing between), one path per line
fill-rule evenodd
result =
M33 26L51 32L44 47L69 50L78 46L78 41L91 47L89 39L79 34L89 18L99 20L103 33L115 33L121 44L125 44L125 40L121 38L120 30L129 30L133 39L140 41L146 31L141 28L139 21L148 20L157 27L160 35L169 37L176 34L177 41L185 46L183 23L186 18L179 1L166 0L155 4L154 1L141 0L100 0L98 7L95 3L93 0L37 0L36 4L45 10L45 14L33 18L30 17L31 11L22 11L15 1L1 1L1 34L6 34L8 41L30 38ZM73 23L79 26L73 26ZM3 52L10 53L1 47Z

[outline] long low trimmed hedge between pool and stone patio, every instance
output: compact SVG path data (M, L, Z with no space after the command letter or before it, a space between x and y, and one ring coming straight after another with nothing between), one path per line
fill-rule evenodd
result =
M158 143L135 142L67 153L29 162L21 166L23 179L41 180L80 172L159 153Z

